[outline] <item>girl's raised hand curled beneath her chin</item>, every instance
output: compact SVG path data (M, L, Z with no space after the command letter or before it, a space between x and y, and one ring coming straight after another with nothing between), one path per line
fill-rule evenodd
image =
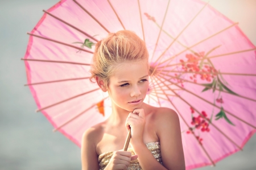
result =
M125 126L127 131L131 128L131 145L138 142L143 143L144 125L145 114L143 109L135 109L128 115Z

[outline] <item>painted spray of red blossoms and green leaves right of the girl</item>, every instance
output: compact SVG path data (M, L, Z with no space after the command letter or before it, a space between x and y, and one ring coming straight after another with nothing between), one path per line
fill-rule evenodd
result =
M147 19L152 20L156 26L162 29L153 16L149 15L148 13L144 13L144 15L146 15ZM163 32L170 38L175 39L174 36L168 34L166 30L163 30ZM176 42L187 48L190 52L179 58L178 61L180 63L173 64L176 68L179 68L179 71L174 72L174 76L170 76L171 79L176 81L176 84L180 84L180 89L185 89L184 82L191 82L193 84L203 86L204 88L201 92L206 92L208 90L212 90L212 93L218 92L217 97L215 97L215 95L213 97L213 109L210 119L207 117L207 113L205 111L201 111L201 113L196 117L195 110L192 106L190 107L192 115L192 127L189 127L187 134L195 134L195 130L197 129L201 132L209 132L209 124L212 122L214 107L216 107L216 105L220 105L217 106L220 111L215 115L215 120L217 121L220 118L224 118L226 122L234 126L234 124L226 116L224 106L222 106L224 100L221 97L221 93L225 92L235 96L238 96L238 94L228 88L228 82L224 80L220 70L217 71L214 64L210 60L210 57L208 57L211 52L221 47L221 45L216 45L216 47L213 47L208 52L196 52L191 48L186 47L184 44L179 42L179 40L176 40ZM203 81L207 81L208 83L201 83ZM202 144L201 142L203 139L200 138L200 135L197 135L196 138L199 143Z

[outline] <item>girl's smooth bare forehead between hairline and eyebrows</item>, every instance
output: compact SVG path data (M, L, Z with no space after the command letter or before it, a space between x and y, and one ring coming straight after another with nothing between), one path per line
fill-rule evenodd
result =
M143 61L136 63L126 62L118 64L117 67L117 70L114 72L113 76L110 77L110 80L132 81L148 74L148 65Z

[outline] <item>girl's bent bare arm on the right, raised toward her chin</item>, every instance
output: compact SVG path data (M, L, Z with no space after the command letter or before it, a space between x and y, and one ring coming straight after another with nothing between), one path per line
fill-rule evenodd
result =
M181 142L179 117L177 116L175 111L171 109L164 108L160 112L161 113L156 114L154 124L156 125L156 133L160 140L163 165L161 165L151 154L150 150L148 150L146 145L143 143L143 139L139 138L139 134L136 134L137 130L139 129L139 121L137 121L137 119L143 119L143 115L140 118L133 114L131 115L131 117L133 117L134 120L130 121L130 118L127 118L126 125L131 126L131 144L134 148L135 153L138 155L139 164L141 165L142 169L148 170L184 170L185 161ZM133 136L136 137L133 138Z

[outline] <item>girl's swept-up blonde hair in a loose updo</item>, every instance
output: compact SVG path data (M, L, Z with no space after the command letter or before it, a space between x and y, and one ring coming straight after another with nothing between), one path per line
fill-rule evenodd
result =
M92 81L96 76L102 78L108 88L109 77L125 61L145 61L148 63L146 44L132 31L110 33L96 44L90 72ZM92 81L93 82L93 81Z

